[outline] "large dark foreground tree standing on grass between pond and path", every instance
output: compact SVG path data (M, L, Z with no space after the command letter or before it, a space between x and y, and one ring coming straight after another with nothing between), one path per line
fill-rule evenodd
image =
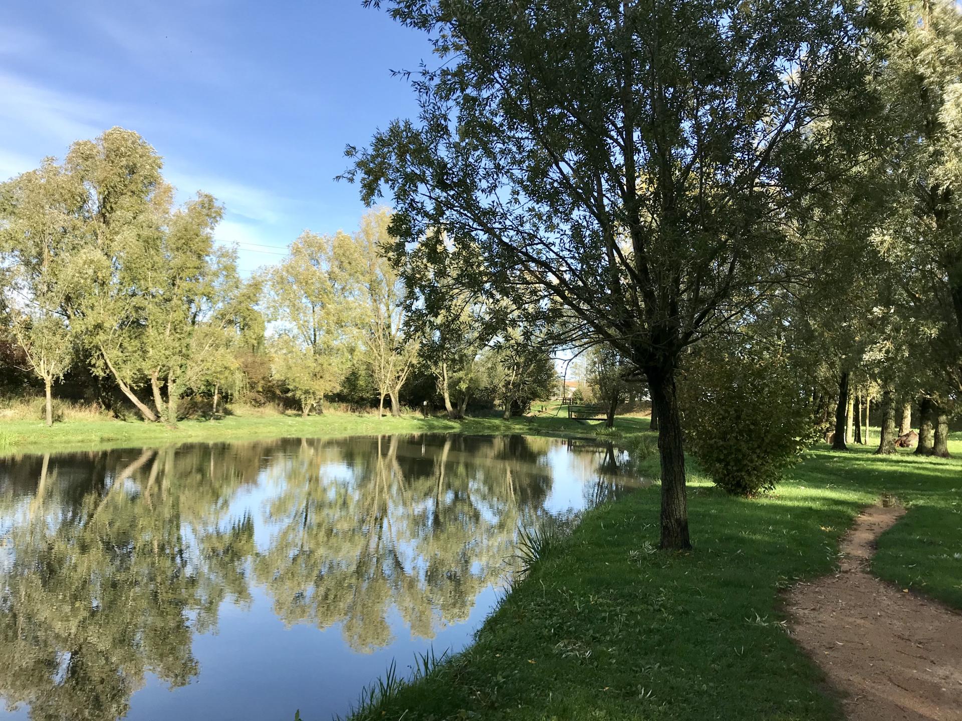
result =
M437 69L415 76L418 122L348 147L345 177L391 193L398 254L448 247L466 286L538 288L646 375L661 545L688 548L679 357L777 286L786 212L847 164L819 121L857 98L865 6L366 4L430 34Z

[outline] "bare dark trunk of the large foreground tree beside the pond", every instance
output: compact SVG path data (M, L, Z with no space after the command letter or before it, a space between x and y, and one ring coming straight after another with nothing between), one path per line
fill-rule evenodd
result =
M688 535L685 451L675 395L674 367L646 369L652 408L658 409L658 455L661 459L661 547L692 547Z

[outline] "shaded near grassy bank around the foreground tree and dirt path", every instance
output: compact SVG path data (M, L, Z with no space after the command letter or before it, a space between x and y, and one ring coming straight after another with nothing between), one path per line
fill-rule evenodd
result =
M819 449L756 500L695 478L689 554L655 551L657 487L590 512L475 645L357 718L840 719L780 591L831 571L862 507L888 492L909 508L874 570L962 608L962 462L871 450Z

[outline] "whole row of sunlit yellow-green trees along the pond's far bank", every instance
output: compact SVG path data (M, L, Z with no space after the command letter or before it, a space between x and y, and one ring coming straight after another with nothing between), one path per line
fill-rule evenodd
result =
M305 232L243 279L237 251L215 244L222 207L203 192L175 207L161 171L150 145L114 128L0 186L0 362L8 393L42 385L48 425L62 383L166 423L225 400L307 414L325 399L390 399L396 414L403 393L458 416L551 392L552 348L519 316L475 303L435 327L406 323L405 286L382 253L389 211L353 234Z

